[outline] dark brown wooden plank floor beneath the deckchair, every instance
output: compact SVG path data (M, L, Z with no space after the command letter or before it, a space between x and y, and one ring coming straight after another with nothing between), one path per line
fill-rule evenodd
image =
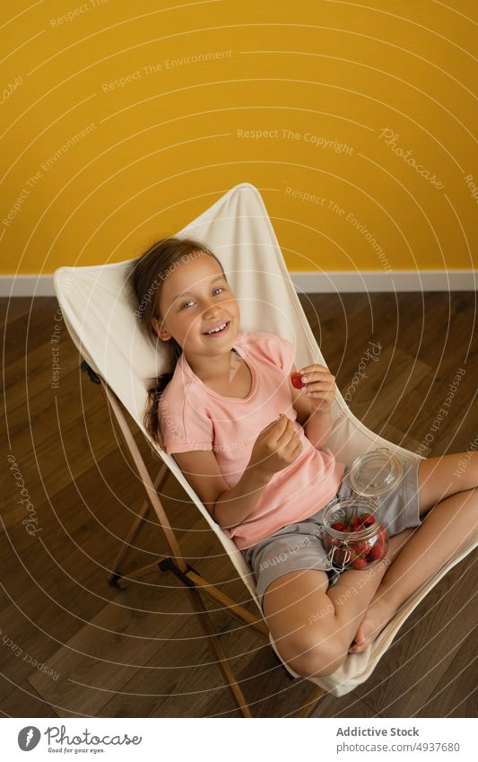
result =
M426 456L465 451L477 434L474 293L301 296L310 325L352 411L392 442ZM0 707L13 717L240 716L184 587L152 574L126 591L106 575L143 502L96 385L79 371L55 299L1 300L5 459L2 471ZM52 343L51 337L58 338ZM369 341L381 346L352 379ZM52 388L52 349L59 383ZM465 376L439 430L431 426L458 369ZM159 461L135 439L154 473ZM428 437L427 437L428 435ZM430 439L431 436L431 439ZM17 474L18 477L18 474ZM29 535L30 500L36 534ZM252 613L256 605L182 488L162 499L187 561ZM31 528L30 528L31 529ZM151 517L128 569L167 552ZM477 683L476 551L422 600L371 678L313 716L472 717ZM291 682L272 648L204 600L254 715L293 714L312 688ZM42 665L45 670L41 671Z

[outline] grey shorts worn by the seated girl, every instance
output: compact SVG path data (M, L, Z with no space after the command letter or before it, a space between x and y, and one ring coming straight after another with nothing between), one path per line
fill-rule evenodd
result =
M419 527L422 524L418 495L418 467L421 459L396 454L403 466L402 480L392 493L377 498L390 537L407 527ZM343 499L353 495L348 474L349 469L345 469L342 484L334 500L337 497ZM327 573L329 587L339 579L342 572L335 569L327 558L326 547L319 536L327 505L308 519L287 524L269 537L261 539L256 545L241 550L254 574L256 595L261 609L266 589L282 574L320 569Z

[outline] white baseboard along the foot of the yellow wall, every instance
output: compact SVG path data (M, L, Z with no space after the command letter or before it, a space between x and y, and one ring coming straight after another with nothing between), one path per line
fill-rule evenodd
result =
M477 270L291 271L297 293L475 291ZM55 296L53 276L0 276L0 296Z

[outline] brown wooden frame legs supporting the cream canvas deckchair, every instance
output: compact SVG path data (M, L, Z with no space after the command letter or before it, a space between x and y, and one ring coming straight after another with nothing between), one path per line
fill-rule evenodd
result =
M248 611L248 609L245 609L239 603L236 603L229 596L225 595L225 593L218 590L218 588L214 587L210 582L204 580L204 577L202 577L201 574L196 571L196 569L187 564L187 562L184 560L184 556L181 553L181 548L178 544L178 539L171 529L168 517L161 504L160 496L158 495L158 492L161 493L161 488L164 486L166 478L169 476L168 466L163 463L156 478L152 480L152 477L150 476L148 469L146 469L142 455L135 442L135 438L131 433L131 429L126 421L126 417L123 413L123 409L119 399L117 398L117 395L113 390L110 389L108 383L91 369L90 365L86 363L86 361L83 361L80 367L84 372L88 373L91 381L100 385L100 389L103 392L104 398L109 405L110 410L113 412L113 420L116 420L117 422L121 438L126 444L126 450L131 456L135 471L140 477L146 492L146 499L144 500L140 511L136 515L135 521L133 521L129 532L127 533L123 547L119 551L115 563L113 564L113 569L108 575L108 581L110 584L113 584L120 589L124 589L129 582L135 582L137 580L143 579L143 577L147 576L148 574L152 574L152 572L156 572L158 569L163 574L167 572L176 574L178 579L186 585L187 594L189 596L192 609L199 619L200 625L204 630L204 635L206 635L208 638L214 657L218 660L218 665L222 671L222 675L230 688L232 696L234 697L240 712L244 717L253 717L248 702L242 693L238 681L235 679L234 672L232 671L230 663L223 651L220 639L214 632L213 622L209 616L208 610L204 606L204 601L201 598L201 592L214 602L221 603L222 606L227 606L231 617L236 617L241 623L246 623L248 626L252 627L252 629L258 635L261 635L265 641L270 644L269 628L265 622L265 618L255 617ZM140 530L146 513L151 509L160 521L161 530L163 531L169 546L170 556L167 558L161 557L161 560L143 566L142 568L135 570L135 572L132 574L125 576L122 574L121 568L128 551L128 547L130 543L133 542L133 539L135 539L137 532ZM274 649L273 653L274 658L276 661L278 661L287 677L291 680L295 680L296 678L294 678L285 668L282 661L280 661L277 654L274 652ZM323 696L326 696L326 690L324 690L324 688L320 688L319 686L315 686L312 689L308 699L293 716L309 717L309 715L315 709L317 702L320 701Z

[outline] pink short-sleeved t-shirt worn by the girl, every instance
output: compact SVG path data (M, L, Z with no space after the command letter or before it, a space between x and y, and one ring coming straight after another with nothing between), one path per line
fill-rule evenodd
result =
M246 469L262 429L279 413L295 421L303 445L299 458L274 474L245 521L223 530L243 550L324 507L338 491L344 464L335 460L332 451L317 450L296 421L289 388L295 358L291 341L264 331L242 331L234 349L252 373L246 399L210 389L191 370L183 353L161 395L159 415L165 451L213 450L229 487L237 484Z

